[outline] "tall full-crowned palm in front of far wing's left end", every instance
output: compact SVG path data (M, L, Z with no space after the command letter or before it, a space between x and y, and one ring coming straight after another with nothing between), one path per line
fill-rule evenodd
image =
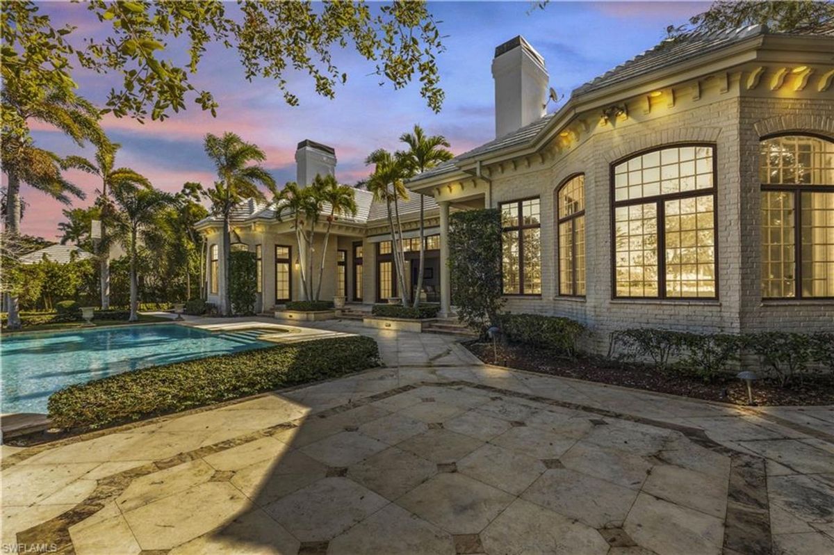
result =
M203 194L211 201L214 215L223 218L224 289L221 291L220 310L229 316L232 311L229 303L229 214L244 198L264 200L258 185L274 191L275 180L261 165L254 164L266 159L264 151L255 144L245 142L237 134L224 133L222 137L206 134L203 148L214 162L219 178L214 182L214 189L208 189Z

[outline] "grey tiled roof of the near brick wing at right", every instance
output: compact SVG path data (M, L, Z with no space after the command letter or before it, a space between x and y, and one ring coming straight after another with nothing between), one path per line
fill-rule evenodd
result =
M623 83L631 78L637 78L648 73L656 72L660 69L671 68L680 63L686 63L694 58L705 56L709 53L714 53L721 48L727 48L733 44L741 43L742 41L756 37L763 34L780 34L780 35L802 35L809 36L815 33L771 33L764 25L751 25L744 28L731 29L729 31L721 31L716 33L693 33L685 35L681 38L667 39L657 44L655 47L646 50L630 60L621 63L616 68L603 73L597 78L590 80L588 83L575 88L570 93L570 101L560 108L559 112L553 114L546 114L541 119L532 124L525 125L520 129L516 129L510 134L503 137L491 140L489 143L481 144L475 149L471 149L463 154L455 156L448 162L440 164L435 169L424 172L410 182L414 183L429 179L442 174L449 174L455 172L459 168L459 163L481 156L483 154L490 154L499 152L504 149L530 144L545 131L555 116L561 114L576 98L580 98L585 94L599 91L601 89L614 86L618 83ZM830 35L825 35L830 37Z

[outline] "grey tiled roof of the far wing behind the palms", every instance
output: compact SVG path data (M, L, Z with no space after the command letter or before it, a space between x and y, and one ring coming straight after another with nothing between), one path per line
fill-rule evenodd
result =
M416 214L420 212L420 194L409 194L409 199L399 201L399 215ZM354 189L354 199L356 200L356 215L339 214L339 221L364 225L388 217L388 209L384 202L377 202L374 200L374 194L365 189ZM436 210L438 208L437 202L432 197L425 197L425 211ZM237 204L230 215L230 221L236 224L243 224L245 222L254 221L256 219L277 219L277 209L275 203L267 203L255 199L244 199ZM324 203L321 214L326 215L330 213L330 205ZM287 221L292 219L292 213L285 211L281 214L281 219ZM203 225L217 224L221 221L219 216L214 214L198 221L198 227Z

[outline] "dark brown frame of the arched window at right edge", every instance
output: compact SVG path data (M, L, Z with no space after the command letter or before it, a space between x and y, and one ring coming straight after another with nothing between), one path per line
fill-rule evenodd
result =
M812 139L821 139L829 143L834 142L834 138L826 137L818 133L805 133L797 131L784 131L764 135L759 138L760 148L761 142L768 139L779 139L780 137L811 137ZM760 150L756 150L758 155ZM756 164L756 175L759 174L760 167ZM807 297L802 295L802 193L834 193L834 184L765 184L760 183L761 192L770 191L776 193L792 193L793 194L793 262L794 268L794 292L792 297L766 297L761 296L761 300L834 300L834 296L824 297ZM760 195L760 209L759 209L759 225L761 226L761 195ZM759 235L759 255L761 256L761 234ZM759 284L761 290L761 275L759 276Z

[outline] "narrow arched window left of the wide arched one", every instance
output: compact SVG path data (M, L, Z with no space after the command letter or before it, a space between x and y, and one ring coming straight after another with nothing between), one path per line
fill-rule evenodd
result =
M585 295L585 175L575 175L558 192L559 295Z

